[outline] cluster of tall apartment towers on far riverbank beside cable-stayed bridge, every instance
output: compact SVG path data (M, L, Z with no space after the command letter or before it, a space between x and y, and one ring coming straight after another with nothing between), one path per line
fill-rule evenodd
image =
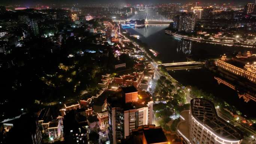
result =
M193 12L182 12L179 13L174 19L174 28L178 31L186 31L191 33L195 28L195 13Z

